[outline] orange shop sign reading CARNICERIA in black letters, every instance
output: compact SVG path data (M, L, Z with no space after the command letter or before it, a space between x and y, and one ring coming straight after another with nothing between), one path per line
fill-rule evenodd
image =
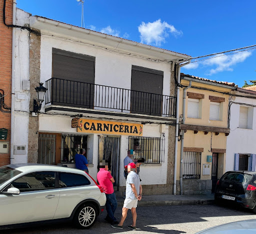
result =
M79 119L77 132L142 136L143 124Z

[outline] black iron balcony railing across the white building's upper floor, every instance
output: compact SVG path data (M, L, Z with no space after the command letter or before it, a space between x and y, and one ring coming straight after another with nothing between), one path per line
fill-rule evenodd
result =
M50 78L45 85L45 104L175 116L174 96L60 78Z

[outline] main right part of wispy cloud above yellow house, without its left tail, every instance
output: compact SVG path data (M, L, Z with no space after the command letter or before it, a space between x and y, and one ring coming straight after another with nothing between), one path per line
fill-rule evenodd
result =
M211 59L204 60L202 64L206 66L216 66L215 68L211 68L207 73L208 75L212 75L224 70L232 71L233 68L231 66L234 66L236 63L243 62L250 55L250 51L242 51L232 55L218 54L213 56Z

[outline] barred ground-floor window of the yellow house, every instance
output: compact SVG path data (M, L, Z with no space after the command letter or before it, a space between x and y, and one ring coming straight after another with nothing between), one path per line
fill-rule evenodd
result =
M183 152L183 178L197 178L201 176L201 152Z

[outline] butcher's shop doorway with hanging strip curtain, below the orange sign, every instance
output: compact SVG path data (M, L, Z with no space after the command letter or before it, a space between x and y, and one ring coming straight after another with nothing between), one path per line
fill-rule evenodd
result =
M113 186L119 190L120 136L99 135L98 165L103 159L111 162L111 172L114 178Z

